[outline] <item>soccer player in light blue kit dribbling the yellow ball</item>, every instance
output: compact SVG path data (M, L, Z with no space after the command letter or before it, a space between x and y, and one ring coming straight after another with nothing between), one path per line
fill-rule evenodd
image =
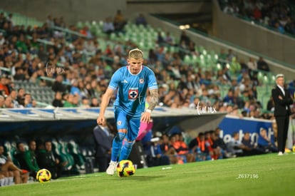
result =
M158 102L155 73L150 68L143 66L143 52L138 48L129 51L127 61L128 66L119 68L110 79L109 86L101 100L97 119L99 125L105 122L105 109L110 98L117 91L114 113L118 133L113 139L111 160L106 170L108 175L114 174L117 160L120 162L120 160L128 159L138 136L140 121L150 122L150 114ZM150 105L145 110L145 96L148 89L150 91Z

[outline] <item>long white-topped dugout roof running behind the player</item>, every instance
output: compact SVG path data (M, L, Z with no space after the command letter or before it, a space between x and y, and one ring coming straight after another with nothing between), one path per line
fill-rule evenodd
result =
M92 131L97 125L100 108L11 108L0 109L0 136L35 133L66 134ZM182 128L198 128L204 124L218 125L226 113L197 113L194 109L157 107L152 112L154 128L164 132L182 123ZM114 123L113 108L105 110L105 117ZM189 121L187 121L189 120ZM187 122L187 123L186 123Z

